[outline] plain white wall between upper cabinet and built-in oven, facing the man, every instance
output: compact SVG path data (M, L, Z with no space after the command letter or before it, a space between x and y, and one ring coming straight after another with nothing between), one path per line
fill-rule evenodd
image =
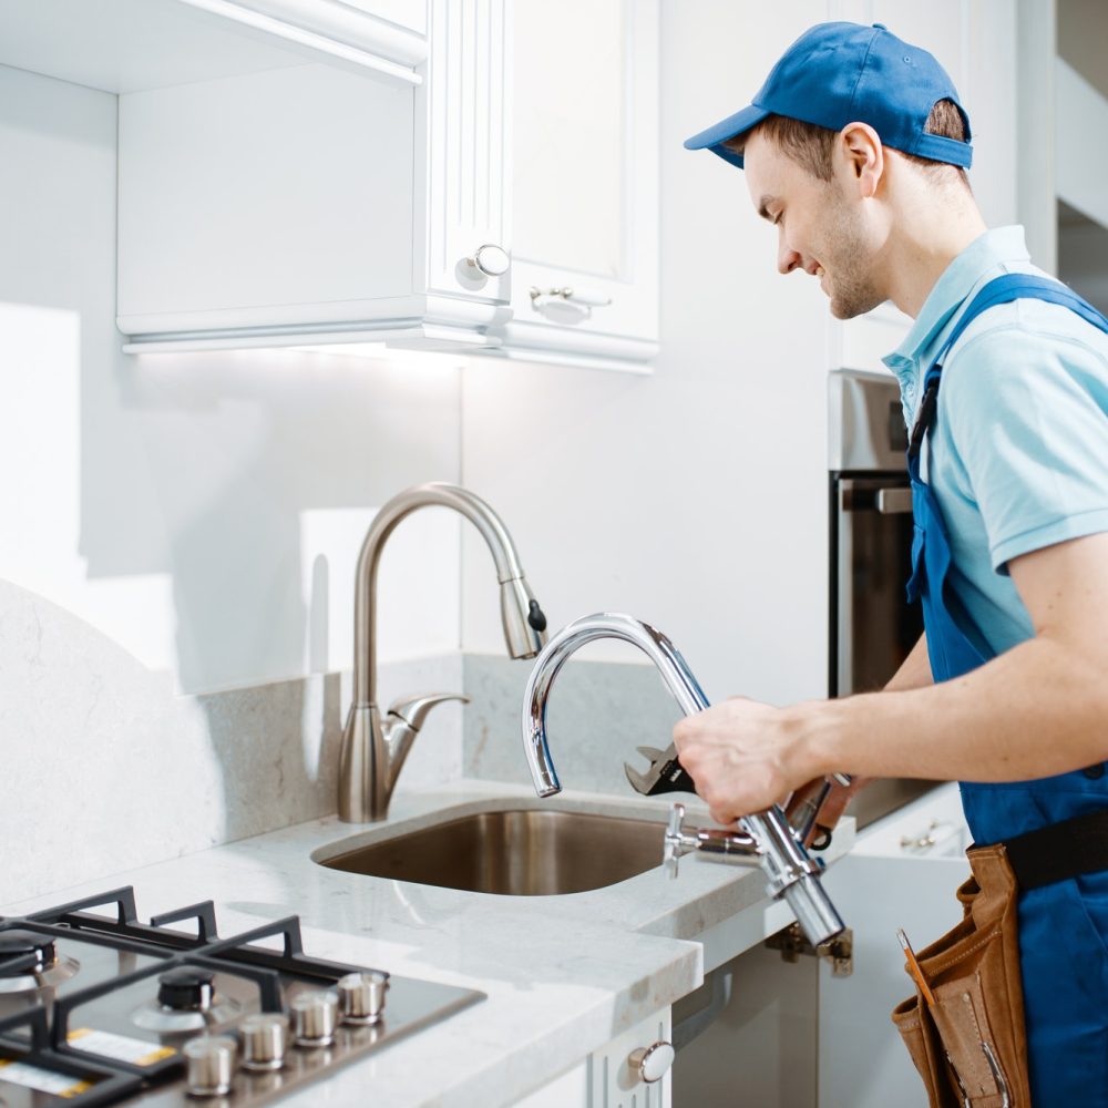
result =
M663 4L661 335L652 377L471 363L462 473L555 625L624 611L710 698L818 696L827 669L827 308L776 274L742 175L681 142L736 111L825 3ZM463 646L499 650L463 536ZM591 652L634 660L630 647Z

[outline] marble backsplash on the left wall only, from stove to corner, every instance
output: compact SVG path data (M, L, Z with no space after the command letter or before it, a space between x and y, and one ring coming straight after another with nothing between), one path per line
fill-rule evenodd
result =
M460 690L458 654L394 663L381 700ZM89 624L0 582L0 904L336 809L349 675L175 694ZM398 791L462 772L439 707Z

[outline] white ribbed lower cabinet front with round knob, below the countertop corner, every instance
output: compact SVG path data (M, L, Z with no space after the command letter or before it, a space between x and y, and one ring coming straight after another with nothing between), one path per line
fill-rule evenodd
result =
M663 1008L513 1108L671 1108L670 1035Z

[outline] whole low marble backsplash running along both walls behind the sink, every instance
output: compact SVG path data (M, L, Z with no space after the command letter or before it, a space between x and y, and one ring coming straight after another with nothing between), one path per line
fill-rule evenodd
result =
M531 664L450 654L383 665L381 702L464 690L424 725L398 792L461 777L527 784ZM89 624L0 582L0 903L335 811L349 674L175 693ZM574 659L547 725L567 789L625 793L625 759L678 718L653 666ZM644 768L645 768L645 763Z

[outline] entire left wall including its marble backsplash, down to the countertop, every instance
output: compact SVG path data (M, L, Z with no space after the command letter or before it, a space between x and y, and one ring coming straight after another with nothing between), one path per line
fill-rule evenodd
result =
M459 476L450 362L123 356L115 135L0 68L0 903L334 811L361 537ZM441 510L386 551L383 702L460 688L459 558ZM401 790L459 776L461 722Z

